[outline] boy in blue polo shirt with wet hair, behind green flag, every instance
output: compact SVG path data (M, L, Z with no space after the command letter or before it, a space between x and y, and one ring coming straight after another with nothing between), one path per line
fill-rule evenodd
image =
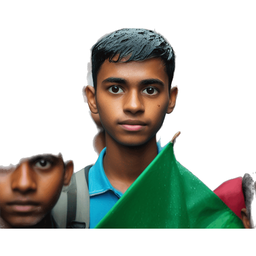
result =
M173 49L153 31L118 30L93 47L94 87L86 86L83 94L103 127L94 142L105 138L106 147L97 148L99 158L89 171L90 228L162 150L156 133L175 107L174 70Z

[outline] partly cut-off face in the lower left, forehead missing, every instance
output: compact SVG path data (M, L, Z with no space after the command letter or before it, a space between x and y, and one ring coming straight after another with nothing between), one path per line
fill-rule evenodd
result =
M40 222L58 201L63 185L69 184L73 170L72 161L64 170L61 154L40 154L23 158L15 166L0 166L0 227L33 226ZM16 200L37 205L12 204Z

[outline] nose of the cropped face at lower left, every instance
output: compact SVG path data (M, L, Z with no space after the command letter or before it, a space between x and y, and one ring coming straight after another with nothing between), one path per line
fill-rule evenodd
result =
M35 172L29 166L28 162L24 161L12 173L12 189L18 189L25 192L30 189L36 189Z

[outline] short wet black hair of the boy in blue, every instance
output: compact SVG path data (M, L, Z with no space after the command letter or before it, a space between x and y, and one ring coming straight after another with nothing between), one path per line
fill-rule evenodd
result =
M112 58L119 55L117 61ZM165 71L169 78L169 94L175 71L175 53L172 46L155 31L143 28L126 28L114 31L99 39L91 52L92 79L97 91L97 75L101 65L108 58L109 62L118 62L131 54L124 61L142 61L152 57L160 57L165 63Z

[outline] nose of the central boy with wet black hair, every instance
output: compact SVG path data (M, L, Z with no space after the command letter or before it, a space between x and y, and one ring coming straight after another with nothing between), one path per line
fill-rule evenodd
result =
M130 111L133 114L138 111L145 111L142 97L139 95L136 89L128 92L124 98L124 101L123 111Z

